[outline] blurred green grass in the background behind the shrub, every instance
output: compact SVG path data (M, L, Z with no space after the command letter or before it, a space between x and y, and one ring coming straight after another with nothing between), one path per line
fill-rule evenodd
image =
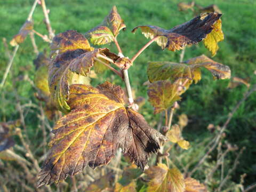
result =
M185 1L187 2L187 1ZM195 1L197 4L207 6L217 4L223 13L222 30L225 34L225 40L219 43L220 49L213 58L215 61L228 65L231 68L232 76L241 78L250 77L251 84L256 83L253 71L256 70L256 2L255 1ZM75 29L81 33L97 26L108 14L113 5L117 6L119 14L124 19L127 29L118 36L124 54L132 57L143 45L147 39L139 31L134 35L130 31L138 25L157 25L162 28L172 28L194 17L191 11L179 12L177 4L179 1L46 1L46 6L50 9L50 20L55 33L61 33L68 29ZM22 24L27 18L33 1L1 1L0 2L0 37L5 37L10 42L12 36L17 34ZM41 34L47 34L43 23L43 13L41 7L37 7L34 14L35 30ZM46 49L48 45L41 38L36 37L36 43L39 51ZM2 79L7 57L3 43L0 43L0 79ZM109 45L110 50L116 51L114 45ZM11 47L10 47L11 49ZM156 44L151 45L129 69L131 84L137 96L147 98L147 87L142 84L147 81L146 68L148 61L178 61L180 52L162 51ZM185 60L206 54L210 57L202 43L198 46L192 46L186 49ZM35 90L27 81L19 81L13 85L12 81L20 75L28 75L34 79L35 69L33 66L35 54L30 39L27 38L14 59L11 72L7 78L0 101L0 121L8 121L19 118L19 113L15 108L15 94L19 95L21 103L29 101L38 103L34 97ZM105 73L100 78L101 81L113 79L111 72ZM92 82L97 84L99 81ZM115 80L115 83L123 83ZM189 141L199 142L200 138L204 140L210 133L206 127L208 124L222 125L226 121L228 113L242 99L247 87L241 85L233 90L227 89L229 80L212 81L210 73L203 70L202 81L197 85L192 85L183 95L180 102L178 114L185 113L189 118L189 125L185 128L185 137ZM237 110L234 118L228 125L227 139L238 145L246 146L245 153L241 159L234 180L239 181L239 175L247 173L246 183L253 182L256 173L256 94L252 94L249 99ZM141 109L141 113L148 122L156 122L159 118L153 115L153 107L147 102ZM174 122L177 118L174 118ZM33 113L26 116L29 125L29 134L33 136L33 127L37 126L37 119ZM233 158L233 157L230 157Z

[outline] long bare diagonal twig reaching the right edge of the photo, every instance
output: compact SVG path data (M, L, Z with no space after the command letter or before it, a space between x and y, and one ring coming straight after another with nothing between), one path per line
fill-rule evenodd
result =
M196 164L196 166L194 167L194 169L188 173L188 177L190 177L197 169L198 167L205 161L206 157L216 148L216 146L218 145L220 139L221 139L221 135L222 133L226 130L226 127L228 125L228 123L230 122L231 118L234 116L236 110L241 106L241 104L254 92L256 91L256 84L254 84L251 88L251 90L248 90L244 97L237 103L237 105L233 108L233 110L231 111L231 113L229 114L227 121L225 122L225 124L221 127L220 132L218 133L218 135L216 136L213 146L204 154L204 156L201 158L201 160Z

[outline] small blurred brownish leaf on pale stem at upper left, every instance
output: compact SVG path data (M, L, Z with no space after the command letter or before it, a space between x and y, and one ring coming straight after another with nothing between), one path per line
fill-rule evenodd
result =
M21 27L19 33L13 37L10 44L12 46L16 46L20 43L23 43L26 39L27 35L33 29L34 22L33 21L26 21L23 26Z

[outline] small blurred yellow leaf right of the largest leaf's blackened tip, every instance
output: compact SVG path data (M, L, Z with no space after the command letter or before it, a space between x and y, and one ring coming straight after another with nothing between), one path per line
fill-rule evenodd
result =
M178 145L182 148L182 149L188 149L189 146L189 142L184 140L181 137L181 130L180 130L180 126L177 124L172 125L172 129L170 129L167 133L166 133L166 137L174 143L178 143Z

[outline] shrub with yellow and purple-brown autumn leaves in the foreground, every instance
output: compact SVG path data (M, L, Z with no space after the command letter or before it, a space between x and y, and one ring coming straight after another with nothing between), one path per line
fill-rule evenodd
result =
M38 174L37 187L73 177L86 166L92 169L105 166L121 148L131 165L124 167L121 179L102 190L137 191L140 182L140 191L207 191L199 181L182 175L177 167L169 164L172 157L169 142L178 143L185 150L190 147L181 136L181 127L172 125L172 116L181 95L201 80L201 68L209 70L213 79L226 79L230 78L229 67L205 55L179 63L149 62L147 71L141 73L148 76L147 93L154 113L165 114L161 132L150 127L138 113L128 70L136 67L136 59L154 42L163 50L178 51L203 41L214 56L218 42L223 40L220 17L217 12L202 13L170 30L137 26L132 33L140 29L150 40L131 59L125 57L118 44L118 34L126 25L115 6L99 26L84 35L75 30L56 35L50 45L50 57L44 58L46 64L37 69L35 83L44 95L46 106L54 106L54 111L58 109L64 115L53 128L50 151ZM32 29L33 22L27 21L12 43L23 42ZM118 53L100 47L109 43L115 43ZM90 85L88 78L92 70L102 73L109 69L124 81L125 91L111 82L102 82L97 87ZM42 71L47 71L47 75L42 75ZM148 165L152 154L156 156ZM109 180L109 177L106 174L102 179ZM97 191L95 186L89 186L91 191Z

